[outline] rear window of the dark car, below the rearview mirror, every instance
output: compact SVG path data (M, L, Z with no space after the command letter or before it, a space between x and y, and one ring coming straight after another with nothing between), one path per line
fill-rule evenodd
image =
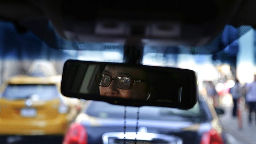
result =
M166 121L207 121L206 111L203 110L201 102L189 110L178 108L142 106L139 108L139 119L166 120ZM100 118L123 118L126 110L127 118L137 118L138 107L111 105L106 102L92 101L85 113Z

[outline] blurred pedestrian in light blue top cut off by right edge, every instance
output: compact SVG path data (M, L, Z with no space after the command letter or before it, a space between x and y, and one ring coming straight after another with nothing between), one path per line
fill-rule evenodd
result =
M249 106L249 125L252 124L252 113L256 113L256 75L254 75L254 81L246 84L246 101ZM256 117L255 117L256 119ZM256 121L255 121L256 123Z

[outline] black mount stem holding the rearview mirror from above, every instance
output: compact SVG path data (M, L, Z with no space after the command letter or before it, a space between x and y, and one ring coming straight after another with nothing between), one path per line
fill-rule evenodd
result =
M142 64L143 46L141 44L124 44L124 62Z

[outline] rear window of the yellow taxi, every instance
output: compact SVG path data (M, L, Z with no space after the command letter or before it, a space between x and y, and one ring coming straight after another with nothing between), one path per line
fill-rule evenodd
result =
M59 95L57 86L54 84L21 84L8 85L2 94L2 98L18 100L31 98L32 100L52 100Z

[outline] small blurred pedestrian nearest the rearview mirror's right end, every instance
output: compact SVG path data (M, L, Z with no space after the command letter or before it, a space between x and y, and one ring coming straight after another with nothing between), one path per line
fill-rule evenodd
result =
M218 93L217 93L217 91L216 91L216 89L215 89L215 86L213 85L213 83L212 83L212 81L207 81L207 84L206 84L206 91L207 91L207 95L210 97L210 98L212 98L212 100L213 100L213 105L214 105L214 107L218 107L218 101L219 101L219 99L218 99Z

